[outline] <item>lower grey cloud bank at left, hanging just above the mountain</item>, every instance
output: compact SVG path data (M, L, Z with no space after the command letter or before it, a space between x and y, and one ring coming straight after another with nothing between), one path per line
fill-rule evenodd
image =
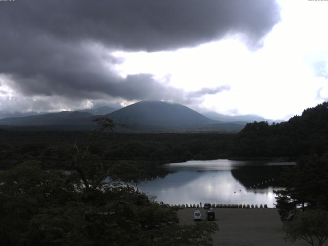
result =
M23 50L12 50L17 59L1 68L11 74L12 87L22 94L66 96L70 98L104 98L107 95L127 100L175 99L181 90L165 86L151 74L121 78L111 69L118 63L100 44L72 43L35 37L25 42ZM18 46L18 44L17 44ZM35 46L37 52L30 52Z

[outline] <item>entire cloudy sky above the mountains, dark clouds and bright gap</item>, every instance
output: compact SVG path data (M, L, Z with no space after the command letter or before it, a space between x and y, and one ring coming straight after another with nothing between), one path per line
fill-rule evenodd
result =
M288 119L328 99L328 2L0 2L0 111L140 100Z

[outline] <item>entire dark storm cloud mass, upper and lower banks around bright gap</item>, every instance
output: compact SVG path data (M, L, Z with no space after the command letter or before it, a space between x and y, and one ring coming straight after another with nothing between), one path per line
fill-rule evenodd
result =
M108 51L172 50L236 32L255 47L278 20L273 0L0 2L0 74L27 96L181 101L211 89L184 95L150 74L121 78Z

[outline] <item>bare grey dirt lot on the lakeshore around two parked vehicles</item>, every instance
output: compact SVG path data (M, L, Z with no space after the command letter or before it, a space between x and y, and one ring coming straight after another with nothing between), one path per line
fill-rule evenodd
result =
M202 219L206 219L206 210L200 209ZM214 209L219 231L213 235L213 244L220 246L305 246L298 241L285 242L276 209ZM180 223L197 223L193 221L193 209L179 210Z

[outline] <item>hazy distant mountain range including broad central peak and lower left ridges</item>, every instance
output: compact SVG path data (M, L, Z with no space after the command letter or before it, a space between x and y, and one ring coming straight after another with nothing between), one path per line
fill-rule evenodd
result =
M25 117L0 119L0 125L7 126L60 126L71 130L95 127L95 115L111 112L110 107L83 111L63 111ZM117 131L158 132L158 131L224 131L238 132L245 124L242 122L220 122L210 119L186 106L164 101L140 101L114 112L105 114L116 122L127 122L133 129L117 128Z

